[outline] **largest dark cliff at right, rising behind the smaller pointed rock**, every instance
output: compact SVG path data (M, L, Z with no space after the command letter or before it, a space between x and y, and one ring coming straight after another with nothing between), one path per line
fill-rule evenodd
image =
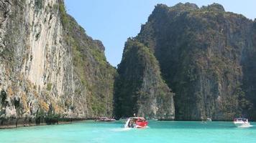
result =
M250 19L219 4L155 7L135 39L159 61L163 79L175 93L175 119L256 119L252 29Z

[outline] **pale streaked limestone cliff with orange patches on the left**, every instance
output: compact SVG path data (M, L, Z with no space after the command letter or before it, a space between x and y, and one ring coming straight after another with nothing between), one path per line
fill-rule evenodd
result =
M115 69L63 1L0 7L1 125L111 116Z

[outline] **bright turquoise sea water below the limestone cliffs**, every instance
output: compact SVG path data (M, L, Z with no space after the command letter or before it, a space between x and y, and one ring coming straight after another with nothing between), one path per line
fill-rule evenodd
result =
M124 129L121 122L76 122L37 127L1 129L0 142L75 143L75 142L256 142L254 127L237 128L232 122L156 122L147 129Z

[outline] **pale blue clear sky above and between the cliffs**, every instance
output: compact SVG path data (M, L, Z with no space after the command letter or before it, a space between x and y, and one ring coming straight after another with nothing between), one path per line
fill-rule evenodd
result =
M226 11L256 18L255 0L65 0L66 11L73 16L88 36L105 46L107 61L116 66L122 59L127 38L137 36L156 4L174 6L179 2L207 6L219 3Z

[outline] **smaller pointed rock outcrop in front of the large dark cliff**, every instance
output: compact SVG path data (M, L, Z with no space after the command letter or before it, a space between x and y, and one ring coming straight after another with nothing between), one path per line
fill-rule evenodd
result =
M128 39L115 81L114 114L174 119L173 93L160 76L158 61L140 42Z

